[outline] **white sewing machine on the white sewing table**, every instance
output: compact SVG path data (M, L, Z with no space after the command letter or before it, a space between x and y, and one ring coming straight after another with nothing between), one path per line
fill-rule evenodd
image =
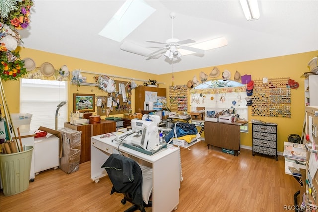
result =
M115 140L151 151L160 145L157 123L146 120L131 120L132 130L116 135Z

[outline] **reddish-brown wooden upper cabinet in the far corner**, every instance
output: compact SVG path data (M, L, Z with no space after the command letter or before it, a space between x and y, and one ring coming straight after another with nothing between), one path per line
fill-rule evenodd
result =
M142 113L144 110L145 92L157 92L157 97L166 97L167 90L165 88L138 86L135 89L135 112Z

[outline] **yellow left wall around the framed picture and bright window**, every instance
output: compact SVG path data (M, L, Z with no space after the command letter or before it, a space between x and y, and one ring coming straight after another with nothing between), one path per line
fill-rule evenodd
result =
M140 72L132 69L126 69L121 67L116 67L112 65L102 64L102 63L96 63L92 61L87 60L81 60L73 57L67 57L63 55L58 54L52 54L48 52L38 51L34 49L27 49L27 48L19 48L20 57L21 59L30 57L32 58L37 67L40 67L42 63L49 62L51 63L55 69L59 69L64 64L67 65L70 71L75 69L81 69L84 71L89 72L97 72L97 73L105 73L109 75L117 75L117 76L124 76L128 78L136 78L136 79L156 79L157 75L155 74L149 74L145 72ZM71 79L71 73L69 76L69 79ZM94 76L93 74L87 74L83 73L83 76L87 77L88 83L94 83ZM117 79L120 81L129 81L128 79ZM136 81L137 84L143 84L143 82ZM164 85L163 85L164 86ZM161 87L163 87L161 86ZM3 81L3 88L5 91L5 96L8 102L10 113L18 113L19 112L19 93L20 93L20 82L19 81ZM80 94L92 94L98 96L105 96L107 95L106 92L98 89L97 87L91 87L91 86L76 86L74 84L69 85L69 108L68 108L68 114L73 111L73 94L74 93L80 93ZM132 96L135 96L135 90L132 91ZM134 111L135 109L135 99L132 98L132 109ZM96 113L96 111L95 111ZM118 115L115 115L118 116ZM121 115L122 116L122 115ZM103 117L102 117L103 118Z

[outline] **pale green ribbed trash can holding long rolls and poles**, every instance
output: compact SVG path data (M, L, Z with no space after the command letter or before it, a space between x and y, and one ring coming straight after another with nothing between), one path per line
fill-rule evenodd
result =
M15 195L29 187L33 146L23 152L0 155L0 172L5 196Z

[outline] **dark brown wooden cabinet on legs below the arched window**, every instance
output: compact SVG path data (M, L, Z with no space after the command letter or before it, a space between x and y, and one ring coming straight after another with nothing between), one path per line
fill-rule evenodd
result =
M220 123L204 121L204 140L208 147L217 146L233 150L238 156L240 150L240 126L245 123Z

